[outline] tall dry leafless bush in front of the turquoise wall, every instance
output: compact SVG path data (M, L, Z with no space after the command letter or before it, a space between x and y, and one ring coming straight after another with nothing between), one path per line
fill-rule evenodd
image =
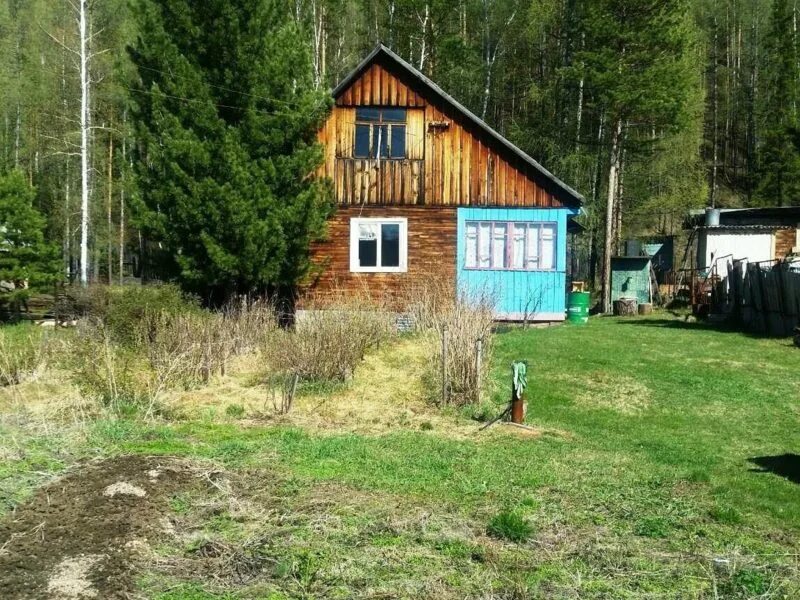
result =
M428 337L431 345L430 380L436 391L446 387L450 404L477 401L491 363L494 294L488 290L473 295L456 293L452 286L432 282L412 291L409 300L414 326ZM442 369L445 338L447 358Z

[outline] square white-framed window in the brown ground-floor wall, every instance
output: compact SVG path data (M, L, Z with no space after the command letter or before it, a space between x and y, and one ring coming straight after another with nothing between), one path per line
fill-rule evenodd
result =
M408 219L350 219L350 271L405 273L408 270Z

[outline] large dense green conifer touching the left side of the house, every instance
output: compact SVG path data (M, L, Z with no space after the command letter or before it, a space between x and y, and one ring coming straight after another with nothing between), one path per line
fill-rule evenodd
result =
M131 49L138 220L210 302L288 294L330 213L307 46L277 0L147 0Z

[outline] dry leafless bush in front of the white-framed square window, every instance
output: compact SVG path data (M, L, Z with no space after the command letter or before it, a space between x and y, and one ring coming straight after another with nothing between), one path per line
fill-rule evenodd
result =
M293 329L276 331L263 350L272 370L303 380L344 381L370 348L395 331L394 316L361 297L330 297L298 315Z

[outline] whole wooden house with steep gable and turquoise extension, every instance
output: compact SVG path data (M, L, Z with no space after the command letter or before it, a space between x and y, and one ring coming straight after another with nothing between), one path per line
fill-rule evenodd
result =
M488 293L500 319L563 320L567 224L582 196L378 46L333 90L320 174L338 210L309 291L400 303L431 281ZM527 314L526 314L527 313Z

